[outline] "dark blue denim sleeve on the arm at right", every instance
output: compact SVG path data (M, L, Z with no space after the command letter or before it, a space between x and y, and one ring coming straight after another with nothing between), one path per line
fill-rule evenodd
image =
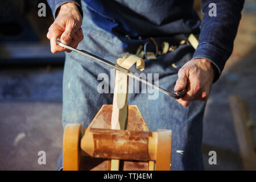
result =
M217 16L209 16L208 12L212 6L208 6L212 2L203 0L201 3L204 18L200 26L200 42L192 59L205 58L212 61L218 70L214 77L215 82L233 51L244 0L216 0L214 3Z

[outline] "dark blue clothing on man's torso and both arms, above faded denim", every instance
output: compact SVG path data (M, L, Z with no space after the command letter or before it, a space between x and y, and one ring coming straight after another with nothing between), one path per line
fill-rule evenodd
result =
M53 16L56 8L68 0L49 1ZM80 6L79 0L72 0ZM200 25L199 16L193 10L191 0L83 0L91 11L101 15L93 17L97 26L114 35L126 34L131 38L139 36L172 36L173 34L199 34L200 42L192 59L206 58L216 66L220 77L226 60L233 50L233 41L241 19L244 0L216 0L217 16L209 16L212 0L203 0L201 11L204 19ZM80 6L81 7L81 6Z

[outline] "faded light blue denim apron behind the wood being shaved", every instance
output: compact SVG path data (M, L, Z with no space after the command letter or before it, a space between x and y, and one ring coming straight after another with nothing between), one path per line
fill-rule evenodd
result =
M84 49L116 63L119 57L127 52L135 53L138 46L148 40L115 36L94 22L92 16L95 14L84 2L82 2L82 9L84 40L79 44L78 49ZM102 17L99 16L99 18ZM163 40L176 44L184 38L185 35L177 34L155 38L155 40L160 46ZM159 73L159 86L172 92L177 71L191 59L193 52L191 46L180 45L175 51L159 55L157 60L146 61L143 73ZM173 63L176 68L171 66ZM134 66L131 71L142 73ZM113 94L97 92L97 86L101 82L97 80L100 73L110 76L110 69L76 52L66 53L63 78L63 127L67 123L81 123L83 127L88 127L102 105L112 104ZM174 98L159 92L156 100L148 100L146 93L130 93L128 104L138 106L150 131L172 130L172 170L204 169L201 140L205 102L193 101L188 107L183 107ZM176 152L177 150L184 152L180 154ZM57 169L61 166L62 154Z

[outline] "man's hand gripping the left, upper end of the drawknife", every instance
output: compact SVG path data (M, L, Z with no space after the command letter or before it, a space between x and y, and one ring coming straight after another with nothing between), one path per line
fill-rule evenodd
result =
M60 37L60 42L76 48L84 39L82 35L82 16L75 3L69 2L61 5L57 18L49 27L47 38L51 42L51 52L60 51L71 52L56 44L57 38Z

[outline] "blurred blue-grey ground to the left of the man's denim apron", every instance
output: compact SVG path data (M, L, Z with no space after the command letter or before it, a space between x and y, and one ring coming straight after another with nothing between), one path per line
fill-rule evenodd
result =
M0 72L0 169L54 170L59 158L63 67ZM38 152L46 152L46 165Z

